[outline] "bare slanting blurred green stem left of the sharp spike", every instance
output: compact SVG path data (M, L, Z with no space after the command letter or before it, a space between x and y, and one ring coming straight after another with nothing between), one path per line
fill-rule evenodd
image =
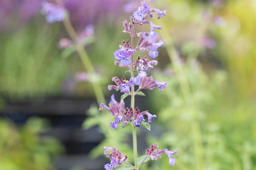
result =
M56 2L57 2L57 4L60 4L60 6L63 6L61 0L56 0ZM65 29L66 29L68 35L75 43L75 48L82 60L83 65L85 66L87 73L95 75L95 69L93 68L91 60L90 60L88 54L86 53L85 48L83 48L83 46L81 44L76 43L77 33L76 33L75 29L73 28L73 26L70 22L70 18L68 16L65 18L65 20L63 20L63 24L65 26ZM99 81L90 81L90 83L92 85L92 88L95 93L96 100L97 100L98 104L100 104L102 102L105 103L104 94L103 94L103 91L102 91Z

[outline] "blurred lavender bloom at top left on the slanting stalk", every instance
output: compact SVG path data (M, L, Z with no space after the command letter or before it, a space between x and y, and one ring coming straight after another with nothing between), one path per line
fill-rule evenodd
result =
M46 15L48 23L61 22L66 17L64 8L49 2L42 3L42 13Z

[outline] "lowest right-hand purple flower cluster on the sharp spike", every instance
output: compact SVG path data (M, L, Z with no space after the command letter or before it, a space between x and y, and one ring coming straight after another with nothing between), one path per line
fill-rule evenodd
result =
M160 154L166 153L169 158L169 164L170 166L173 166L175 164L175 158L172 158L172 154L176 154L178 151L168 151L168 150L156 150L158 147L157 144L151 145L149 149L146 150L146 156L149 157L151 160L157 160L158 158L161 158Z

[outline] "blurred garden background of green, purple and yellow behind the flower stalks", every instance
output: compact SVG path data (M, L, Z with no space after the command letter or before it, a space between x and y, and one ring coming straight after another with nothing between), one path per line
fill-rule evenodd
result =
M113 53L129 38L122 22L140 2L63 0L77 33L90 25L83 45L93 78L72 45L64 47L63 24L46 22L42 2L0 0L0 169L104 169L104 146L132 163L131 130L111 129L91 79L101 84L106 104L113 93L120 99L107 85L129 74L114 65ZM152 143L178 154L173 167L163 156L140 169L256 169L256 2L146 3L167 11L154 19L165 45L147 74L168 87L135 100L157 115L150 132L139 130L139 154Z

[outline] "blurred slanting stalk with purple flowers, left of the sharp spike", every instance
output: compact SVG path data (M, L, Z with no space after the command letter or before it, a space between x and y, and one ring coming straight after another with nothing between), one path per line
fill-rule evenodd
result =
M78 55L81 58L83 65L85 66L86 73L78 73L76 75L76 81L90 81L92 84L93 91L95 93L97 102L105 102L102 88L100 86L99 75L96 74L96 71L91 63L91 60L86 53L84 46L88 44L89 39L93 39L94 27L91 24L88 24L85 29L81 32L76 32L71 20L70 15L68 14L70 10L65 7L65 3L62 0L56 0L55 3L51 2L42 2L42 14L45 15L48 23L54 22L63 22L63 25L70 37L62 38L58 43L58 46L61 49L70 49L70 51L77 51Z

